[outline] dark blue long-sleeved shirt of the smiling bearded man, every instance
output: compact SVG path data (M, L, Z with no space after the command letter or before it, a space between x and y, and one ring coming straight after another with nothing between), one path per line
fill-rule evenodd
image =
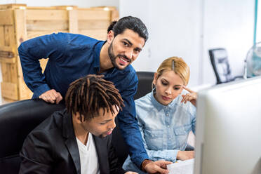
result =
M19 48L22 72L33 98L55 89L65 98L69 83L87 74L100 71L100 50L105 41L98 41L81 34L58 33L39 36L23 42ZM49 58L44 74L39 59ZM140 166L147 153L135 119L135 95L138 77L131 65L123 70L108 69L104 79L114 82L124 100L123 111L118 114L123 138L129 145L133 161Z

